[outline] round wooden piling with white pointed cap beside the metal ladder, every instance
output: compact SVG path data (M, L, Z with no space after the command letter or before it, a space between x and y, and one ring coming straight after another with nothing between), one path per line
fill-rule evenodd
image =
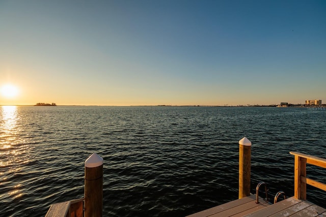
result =
M250 195L251 141L239 141L239 199Z

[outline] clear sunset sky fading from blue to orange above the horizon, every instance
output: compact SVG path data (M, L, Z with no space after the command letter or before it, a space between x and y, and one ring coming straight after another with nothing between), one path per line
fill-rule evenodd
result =
M326 103L326 1L0 0L0 105Z

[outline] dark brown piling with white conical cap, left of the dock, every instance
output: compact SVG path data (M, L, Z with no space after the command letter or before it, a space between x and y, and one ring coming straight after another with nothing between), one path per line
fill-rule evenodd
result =
M85 217L101 217L103 210L103 159L93 153L85 161Z

